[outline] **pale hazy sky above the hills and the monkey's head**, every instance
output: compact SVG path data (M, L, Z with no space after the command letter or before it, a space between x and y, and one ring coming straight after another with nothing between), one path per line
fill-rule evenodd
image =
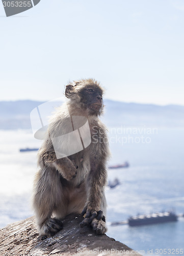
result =
M184 105L183 0L41 0L6 17L0 100L49 100L93 77L106 98Z

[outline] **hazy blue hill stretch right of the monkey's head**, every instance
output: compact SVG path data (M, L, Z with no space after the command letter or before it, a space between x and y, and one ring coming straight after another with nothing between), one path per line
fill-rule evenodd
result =
M104 118L110 126L172 126L184 127L184 106L125 103L106 100Z

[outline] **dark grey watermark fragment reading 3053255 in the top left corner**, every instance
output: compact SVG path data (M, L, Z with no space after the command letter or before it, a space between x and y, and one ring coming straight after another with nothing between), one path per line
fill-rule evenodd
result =
M40 2L40 0L2 0L2 2L6 16L9 17L33 8Z

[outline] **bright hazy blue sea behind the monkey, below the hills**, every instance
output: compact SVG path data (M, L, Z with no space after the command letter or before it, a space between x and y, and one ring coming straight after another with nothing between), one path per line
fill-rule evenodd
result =
M130 216L174 210L184 214L183 127L110 127L109 165L129 163L108 170L106 187L109 237L126 244L134 254L184 255L184 218L177 222L139 227L111 225ZM40 147L31 130L0 130L0 228L34 215L31 197L37 170L37 152L20 148ZM107 141L106 141L107 143ZM112 248L112 251L115 248ZM125 252L126 253L126 252Z

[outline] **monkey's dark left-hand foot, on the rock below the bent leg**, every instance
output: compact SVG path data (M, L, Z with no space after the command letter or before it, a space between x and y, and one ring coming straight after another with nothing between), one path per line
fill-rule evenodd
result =
M46 235L54 236L54 234L56 234L62 228L63 228L63 222L54 218L54 219L49 219L47 222L45 222L41 229Z

